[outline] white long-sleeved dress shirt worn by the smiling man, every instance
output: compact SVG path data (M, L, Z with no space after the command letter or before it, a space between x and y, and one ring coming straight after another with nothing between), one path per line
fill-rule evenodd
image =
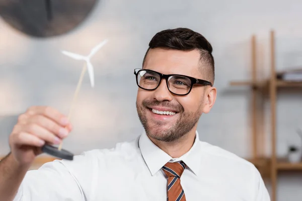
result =
M187 201L269 201L255 166L219 147L199 141L173 159L143 133L113 149L91 150L73 161L55 160L27 172L14 200L167 200L167 162L187 165L181 185Z

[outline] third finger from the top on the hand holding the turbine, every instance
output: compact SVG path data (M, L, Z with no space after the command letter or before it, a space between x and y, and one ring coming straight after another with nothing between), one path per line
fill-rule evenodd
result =
M45 129L37 124L25 125L23 128L23 131L30 133L34 136L37 136L41 140L44 140L51 144L60 144L61 143L61 139L59 139L53 133L51 133L47 129Z

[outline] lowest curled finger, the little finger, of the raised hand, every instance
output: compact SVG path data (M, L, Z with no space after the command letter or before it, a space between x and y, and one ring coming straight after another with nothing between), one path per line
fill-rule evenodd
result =
M30 145L35 147L42 147L45 144L44 140L41 140L37 136L26 132L21 132L18 135L15 135L14 138L16 145Z

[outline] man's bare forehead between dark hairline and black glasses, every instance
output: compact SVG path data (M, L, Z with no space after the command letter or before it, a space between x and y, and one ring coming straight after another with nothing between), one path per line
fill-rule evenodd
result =
M192 77L200 74L200 53L198 50L150 49L143 65L144 69L155 70L163 74L183 74Z

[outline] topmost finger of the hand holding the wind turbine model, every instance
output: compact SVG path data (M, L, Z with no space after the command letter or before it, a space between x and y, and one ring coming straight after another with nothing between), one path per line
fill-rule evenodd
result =
M65 115L48 106L33 106L30 107L26 113L30 116L44 115L45 117L52 119L61 126L66 126L67 124L69 124L69 121Z

